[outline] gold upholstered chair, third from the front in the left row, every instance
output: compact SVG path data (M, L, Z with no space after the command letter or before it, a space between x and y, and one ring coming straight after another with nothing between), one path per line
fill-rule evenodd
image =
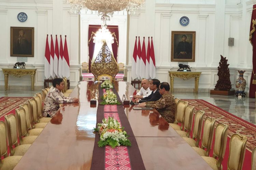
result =
M18 122L18 135L20 144L32 144L37 136L41 133L40 129L31 129L28 131L26 114L23 107L16 108L15 114Z

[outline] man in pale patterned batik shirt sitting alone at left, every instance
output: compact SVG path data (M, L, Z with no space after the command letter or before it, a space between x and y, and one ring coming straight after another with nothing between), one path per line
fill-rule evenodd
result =
M60 103L78 102L77 98L65 97L61 90L64 89L64 82L61 78L53 80L53 87L50 88L47 96L44 99L43 117L53 117L59 109Z

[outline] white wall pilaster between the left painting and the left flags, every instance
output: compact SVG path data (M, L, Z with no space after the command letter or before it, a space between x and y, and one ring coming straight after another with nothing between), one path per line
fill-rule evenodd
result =
M47 35L47 11L37 10L37 29L35 30L34 44L37 45L34 48L34 54L37 56L35 64L44 64L44 53L45 53L45 41ZM50 40L50 41L49 41ZM48 39L51 42L51 39Z

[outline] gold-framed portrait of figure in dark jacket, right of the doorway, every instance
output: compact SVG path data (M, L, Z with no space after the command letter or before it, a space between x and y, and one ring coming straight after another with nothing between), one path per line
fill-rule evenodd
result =
M195 62L196 31L172 31L171 61Z

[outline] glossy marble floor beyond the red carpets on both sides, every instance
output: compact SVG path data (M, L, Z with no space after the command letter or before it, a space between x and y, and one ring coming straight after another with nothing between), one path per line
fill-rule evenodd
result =
M41 90L31 92L30 90L12 90L7 93L4 90L0 90L0 97L32 97ZM252 98L237 98L232 96L222 95L210 95L209 93L193 92L174 92L175 97L180 99L203 99L209 103L212 103L225 111L236 115L248 122L256 125L256 103Z

